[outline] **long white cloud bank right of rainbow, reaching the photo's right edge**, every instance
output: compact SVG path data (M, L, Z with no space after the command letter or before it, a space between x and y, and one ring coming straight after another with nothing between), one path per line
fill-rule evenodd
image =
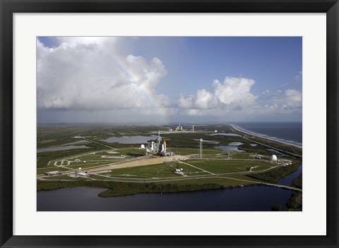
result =
M266 118L302 112L302 91L297 89L265 90L260 97L251 92L255 81L244 77L214 80L212 91L199 89L195 95L179 98L182 115L219 116L228 120Z

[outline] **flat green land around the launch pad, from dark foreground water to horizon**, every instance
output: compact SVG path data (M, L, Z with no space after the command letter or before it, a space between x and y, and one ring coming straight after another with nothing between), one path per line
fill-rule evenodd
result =
M157 130L160 130L162 138L167 140L169 151L187 156L188 159L184 158L179 161L179 159L183 159L179 157L179 159L171 160L168 163L111 169L112 172L90 175L89 178L71 178L67 175L42 176L44 180L38 180L37 189L51 190L78 186L103 187L107 191L100 194L102 197L141 192L210 190L263 182L275 183L295 171L297 166L302 163L302 157L298 156L298 154L302 154L302 149L251 135L245 137L241 132L232 130L227 124L196 125L196 132L168 132L169 128L174 129L175 126L38 125L38 148L59 147L86 139L88 142L74 145L85 144L88 149L37 153L37 175L43 175L47 171L76 171L80 167L82 171L89 168L96 168L100 171L101 166L110 163L119 164L133 161L138 156L145 156L145 150L138 149L140 144L108 143L103 140L112 136L157 135ZM240 136L214 135L215 130L233 132ZM75 136L86 138L76 139ZM202 159L199 159L199 139L205 140ZM228 152L215 149L216 146L227 146L231 142L242 142L239 149L245 152L230 152L229 158ZM257 144L256 147L251 146L251 143L254 142ZM286 151L287 156L284 156L284 159L292 161L294 164L283 167L276 163L270 163L268 159L273 152L268 151L268 148ZM290 154L293 157L288 156L289 153L293 153ZM119 159L121 155L126 158ZM261 159L255 157L258 155L261 156ZM80 159L80 161L75 161L76 159ZM68 161L71 163L66 165L69 163ZM67 168L54 166L55 162ZM182 171L174 173L175 169L182 169ZM302 187L302 178L297 178L294 185Z

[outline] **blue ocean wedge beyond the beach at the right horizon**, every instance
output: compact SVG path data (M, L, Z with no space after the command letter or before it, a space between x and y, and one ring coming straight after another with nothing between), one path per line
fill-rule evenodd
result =
M234 124L244 130L255 132L260 135L266 135L273 139L302 144L301 122L259 122Z

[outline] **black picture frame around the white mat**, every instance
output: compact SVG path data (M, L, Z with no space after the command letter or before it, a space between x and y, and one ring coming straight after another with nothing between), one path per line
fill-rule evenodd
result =
M1 247L338 247L338 0L0 0L0 8ZM13 236L13 13L126 12L326 13L326 236Z

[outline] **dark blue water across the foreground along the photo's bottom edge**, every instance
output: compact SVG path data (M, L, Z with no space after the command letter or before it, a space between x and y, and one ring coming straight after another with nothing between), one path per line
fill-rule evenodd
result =
M167 194L97 197L102 189L75 187L37 192L37 211L270 211L294 193L277 187L248 186Z

